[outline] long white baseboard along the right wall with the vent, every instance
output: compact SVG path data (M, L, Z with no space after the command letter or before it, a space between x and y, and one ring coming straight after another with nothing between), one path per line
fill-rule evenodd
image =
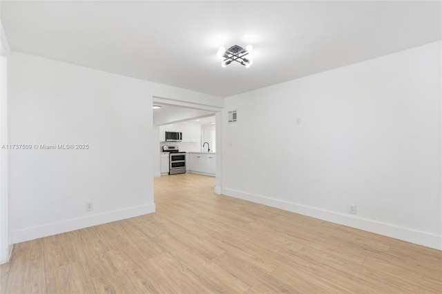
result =
M323 219L325 221L342 224L344 226L351 226L352 228L358 228L363 231L392 237L394 239L400 239L406 242L411 242L414 244L442 250L442 236L440 235L416 231L410 228L403 228L401 226L395 226L392 224L385 224L383 222L376 222L371 219L363 219L361 217L355 217L353 215L334 213L332 211L321 210L318 208L303 206L291 202L285 202L279 199L243 193L238 190L232 190L229 188L222 188L222 194L258 204L263 204L266 206L271 206L274 208L279 208L282 210L287 210L292 213L299 213L300 215L307 215L309 217Z

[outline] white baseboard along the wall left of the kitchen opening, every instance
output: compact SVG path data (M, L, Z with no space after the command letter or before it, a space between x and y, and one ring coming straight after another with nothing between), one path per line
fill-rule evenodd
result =
M87 217L67 219L62 222L44 224L41 226L32 226L30 228L21 228L19 230L12 231L12 241L13 243L25 242L41 237L75 231L80 228L87 228L89 226L97 226L99 224L115 222L121 219L146 215L148 213L155 213L155 204L136 206L122 210L113 210L108 213L99 213Z

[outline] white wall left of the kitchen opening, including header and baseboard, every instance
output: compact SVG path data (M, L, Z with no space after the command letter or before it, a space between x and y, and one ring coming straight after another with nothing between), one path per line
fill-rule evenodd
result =
M152 97L222 104L218 97L18 52L9 66L10 144L88 144L86 150L10 152L15 243L155 211Z

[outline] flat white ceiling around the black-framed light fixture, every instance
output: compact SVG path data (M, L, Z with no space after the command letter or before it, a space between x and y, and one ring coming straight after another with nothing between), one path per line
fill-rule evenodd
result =
M441 1L1 1L12 50L228 97L441 39ZM252 44L222 68L220 46Z

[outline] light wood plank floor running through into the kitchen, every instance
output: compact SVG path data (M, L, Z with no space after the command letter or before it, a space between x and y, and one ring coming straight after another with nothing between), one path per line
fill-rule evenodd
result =
M15 244L1 293L442 293L442 252L155 178L157 212Z

